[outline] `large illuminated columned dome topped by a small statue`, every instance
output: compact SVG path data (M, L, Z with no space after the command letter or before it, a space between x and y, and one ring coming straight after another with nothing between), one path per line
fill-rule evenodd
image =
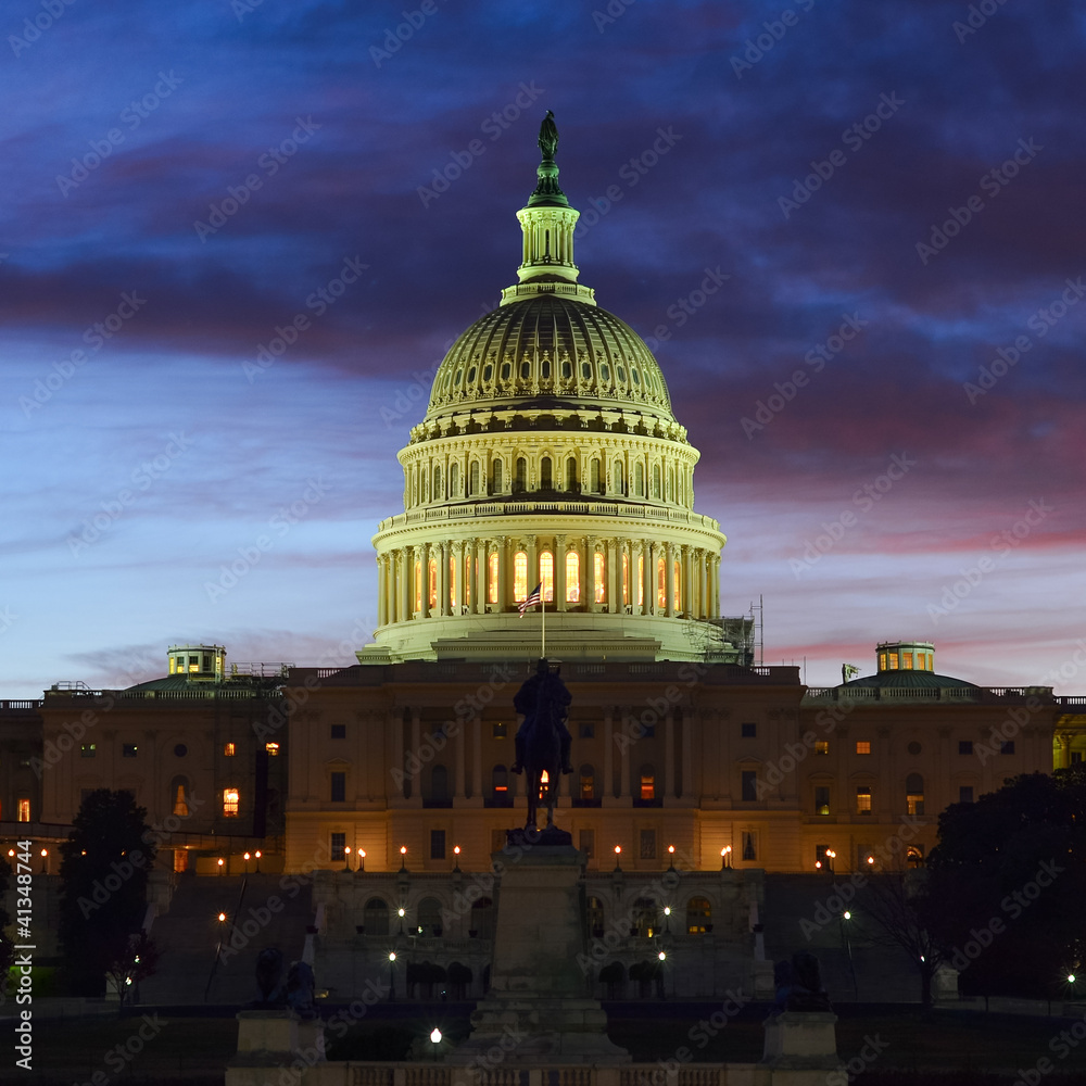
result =
M579 212L556 143L548 114L517 213L518 281L450 349L400 452L404 510L374 536L378 628L363 664L544 648L743 661L720 619L724 536L694 510L697 450L644 341L578 282ZM542 608L521 617L536 584Z

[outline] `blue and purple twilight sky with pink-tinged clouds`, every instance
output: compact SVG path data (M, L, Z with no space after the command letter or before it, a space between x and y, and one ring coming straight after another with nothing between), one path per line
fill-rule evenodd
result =
M1086 693L1078 5L10 0L0 37L0 697L177 643L354 662L548 109L765 662L927 640Z

